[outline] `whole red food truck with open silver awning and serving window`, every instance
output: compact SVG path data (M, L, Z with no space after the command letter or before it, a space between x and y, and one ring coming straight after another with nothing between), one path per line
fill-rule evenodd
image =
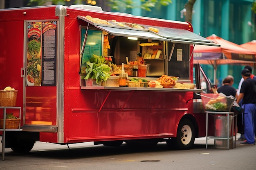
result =
M35 141L106 146L165 141L191 148L196 137L206 134L206 113L195 95L202 89L193 46L218 44L193 33L187 22L89 8L0 10L0 90L18 90L16 106L21 107L20 129L6 130L5 148L29 152ZM115 76L105 86L85 86L85 63L92 54L105 55L104 36L110 44L106 55L115 64L141 53L148 64L146 79L176 76L196 88L108 86ZM153 58L156 49L160 55ZM19 115L12 108L7 113ZM209 128L209 135L213 132Z

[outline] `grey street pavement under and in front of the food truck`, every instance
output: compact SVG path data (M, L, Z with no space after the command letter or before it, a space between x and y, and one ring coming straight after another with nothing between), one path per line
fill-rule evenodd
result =
M27 154L6 148L0 170L256 170L256 146L239 143L234 149L217 149L211 139L206 149L202 137L195 139L191 150L169 150L165 142L155 149L134 149L125 143L106 147L92 142L68 146L36 142Z

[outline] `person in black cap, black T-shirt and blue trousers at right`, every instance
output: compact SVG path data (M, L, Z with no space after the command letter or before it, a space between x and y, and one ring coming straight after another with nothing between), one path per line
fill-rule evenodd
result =
M254 139L254 115L256 114L256 80L250 78L250 71L244 68L241 72L244 82L237 99L237 103L242 101L244 109L244 135L246 141L240 142L240 145L253 146Z

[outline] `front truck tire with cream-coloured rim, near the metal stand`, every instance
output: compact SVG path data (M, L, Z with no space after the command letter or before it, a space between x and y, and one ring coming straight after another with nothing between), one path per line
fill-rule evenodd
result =
M166 141L166 144L175 149L191 149L195 141L195 127L189 119L180 121L177 128L177 136Z

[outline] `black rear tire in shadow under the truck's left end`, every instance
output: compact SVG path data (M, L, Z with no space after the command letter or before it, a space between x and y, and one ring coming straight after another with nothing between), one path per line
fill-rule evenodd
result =
M26 141L20 139L15 142L15 144L11 147L11 150L18 153L27 153L29 152L35 144L35 141Z

